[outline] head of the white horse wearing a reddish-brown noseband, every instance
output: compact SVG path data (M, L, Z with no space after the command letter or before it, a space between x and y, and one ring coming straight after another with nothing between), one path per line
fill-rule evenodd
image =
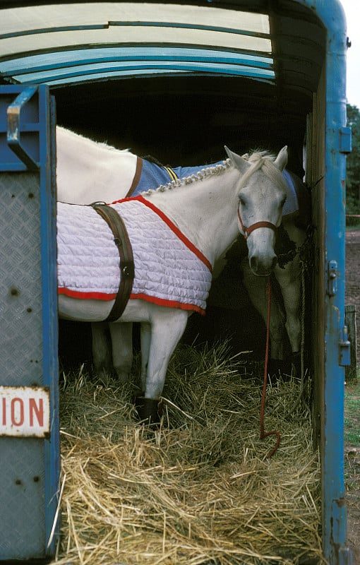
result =
M254 275L267 276L277 263L275 232L282 221L287 185L282 170L287 165L287 146L275 158L268 153L241 157L225 147L241 173L238 191L239 231L246 238L248 261Z

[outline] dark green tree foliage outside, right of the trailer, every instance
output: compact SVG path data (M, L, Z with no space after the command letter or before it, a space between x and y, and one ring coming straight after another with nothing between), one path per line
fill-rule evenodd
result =
M347 155L347 214L360 214L360 111L347 105L347 125L352 128L352 153ZM347 225L360 224L360 218L347 218Z

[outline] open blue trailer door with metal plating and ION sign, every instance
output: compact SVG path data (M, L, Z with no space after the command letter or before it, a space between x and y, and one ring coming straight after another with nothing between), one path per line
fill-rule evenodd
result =
M59 423L54 103L0 87L0 560L52 557Z

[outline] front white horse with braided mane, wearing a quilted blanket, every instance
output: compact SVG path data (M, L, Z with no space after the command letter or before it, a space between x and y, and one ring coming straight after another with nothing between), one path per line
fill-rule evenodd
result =
M280 150L275 160L273 157L258 155L256 159L254 157L253 161L248 162L228 149L227 154L229 159L224 161L223 165L203 169L197 176L193 176L190 183L179 180L169 182L167 186L161 186L156 191L148 191L148 193L138 197L139 200L135 199L136 206L141 204L146 210L149 208L154 210L154 213L163 222L162 229L164 228L163 224L170 225L172 232L180 234L181 242L193 254L191 261L194 257L200 258L200 263L196 263L196 268L192 270L192 267L188 268L190 258L186 256L184 266L181 266L182 251L181 255L179 254L181 273L185 273L190 278L193 277L191 278L189 292L192 288L200 288L200 297L198 295L191 297L191 299L185 297L184 305L184 302L181 302L183 299L179 299L177 295L176 299L172 299L170 290L167 291L169 296L165 299L154 299L149 290L150 283L146 280L146 275L143 274L143 264L139 259L141 254L138 254L136 247L133 250L135 272L141 273L141 275L136 276L140 277L141 280L140 283L137 283L138 286L135 291L133 288L124 313L118 321L141 323L141 386L145 405L148 405L149 402L157 403L160 398L169 358L184 332L188 316L193 309L201 309L201 304L204 304L211 278L211 276L206 278L205 273L208 273L209 270L208 274L210 274L215 261L229 249L239 232L244 233L245 229L248 232L248 256L252 270L263 277L269 275L274 268L276 269L275 231L282 222L282 208L287 198L287 185L281 174L287 164L287 147ZM133 199L128 202L133 203ZM115 204L114 206L116 208L116 206L121 205ZM74 219L73 214L78 214L78 216ZM102 239L99 222L103 222L109 242L107 248L111 248L109 254L112 254L111 261L112 266L114 266L114 254L116 256L117 249L112 232L102 218L91 207L59 203L59 316L71 320L97 322L107 319L112 310L114 289L110 285L109 289L107 286L102 292L101 288L100 290L97 288L100 283L97 285L97 280L95 280L93 298L92 283L89 283L85 277L87 271L84 266L88 266L90 257L91 261L92 257L96 256L100 256L102 259L107 248L102 247L96 249L96 251L91 248L91 251L87 249L85 252L80 250L80 258L76 257L75 262L69 260L68 264L68 258L70 257L72 260L73 253L76 250L74 241L78 242L80 237L80 234L75 234L76 239L71 239L68 243L71 251L61 251L64 246L63 239L66 240L68 232L73 230L76 222L85 227L83 219L85 217L88 218L86 227L90 225L88 228L90 236L86 233L83 237L84 241L88 242L89 239L92 239L92 245L100 245ZM136 230L140 230L140 227L143 229L143 225L147 225L148 222L148 220L143 222L140 216L133 219L133 212L128 213L126 219L123 216L123 219L128 224L126 225L128 229L131 228L131 222L135 222L136 225L133 229L135 235L138 233ZM85 260L83 257L85 257ZM81 261L85 261L83 266ZM171 261L174 264L174 256L172 256ZM78 268L78 271L80 269L80 272L78 272L80 282L74 274L74 270L76 270L74 265ZM104 266L101 265L100 267L100 270L96 270L97 265L92 266L91 264L90 272L100 272L103 275ZM176 261L174 268L177 268ZM119 268L114 271L119 279L120 273L117 271L119 271ZM83 279L85 279L85 282L83 282ZM163 280L162 276L160 276L160 280ZM81 287L82 284L83 287ZM113 284L118 285L119 280L116 280ZM172 284L171 280L170 285ZM81 292L84 292L83 296ZM108 295L107 292L109 292ZM98 299L100 295L102 295L102 299ZM138 296L141 296L141 298L139 299ZM196 304L196 307L194 307L194 304ZM121 344L119 344L119 347L121 347ZM150 415L154 420L153 410L151 410Z

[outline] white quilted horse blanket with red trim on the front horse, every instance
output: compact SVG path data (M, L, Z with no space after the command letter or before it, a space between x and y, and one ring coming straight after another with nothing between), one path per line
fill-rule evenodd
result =
M212 267L163 213L142 196L112 204L133 248L132 299L204 314ZM107 222L90 206L57 205L59 294L113 300L119 251Z

